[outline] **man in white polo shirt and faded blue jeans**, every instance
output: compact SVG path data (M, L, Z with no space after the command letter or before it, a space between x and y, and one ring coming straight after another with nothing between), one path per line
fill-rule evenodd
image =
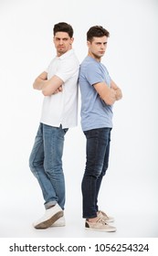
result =
M47 229L64 226L65 181L62 169L64 136L78 120L79 60L73 49L73 28L65 22L54 26L57 56L33 87L44 94L43 108L29 166L37 177L46 212L33 225Z

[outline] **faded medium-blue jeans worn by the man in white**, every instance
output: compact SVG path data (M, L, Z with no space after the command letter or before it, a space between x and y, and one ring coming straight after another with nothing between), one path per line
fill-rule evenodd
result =
M45 199L45 208L58 203L64 209L65 180L62 169L64 135L68 129L39 124L29 167L37 177Z

